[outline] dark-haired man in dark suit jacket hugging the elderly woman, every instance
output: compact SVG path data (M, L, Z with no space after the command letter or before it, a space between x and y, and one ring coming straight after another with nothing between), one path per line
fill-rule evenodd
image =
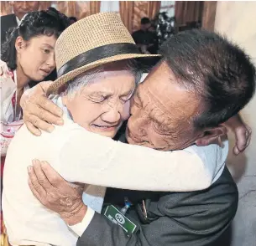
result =
M138 86L134 96L128 142L167 151L194 143L205 145L221 136L220 124L236 115L253 96L255 69L248 57L226 39L204 31L170 38L161 54L163 59ZM38 94L35 101L45 108L44 96ZM52 107L47 103L46 108ZM56 108L51 111L56 112ZM54 121L49 113L40 116ZM34 124L41 123L36 120ZM79 189L70 187L47 164L35 166L29 176L34 195L73 225L81 236L77 242L80 246L209 245L231 223L238 206L237 187L225 168L211 187L199 192L108 188L105 213L95 213L87 223L87 207L81 201ZM132 206L125 197L129 197ZM110 204L115 208L125 205L127 218L110 213ZM116 216L115 222L120 223L112 223L104 214ZM134 228L133 233L125 233L127 226Z

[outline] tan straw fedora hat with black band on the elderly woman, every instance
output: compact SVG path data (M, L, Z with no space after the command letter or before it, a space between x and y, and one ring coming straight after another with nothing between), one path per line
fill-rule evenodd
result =
M66 82L89 69L123 59L156 57L141 54L118 13L97 13L73 23L55 44L58 79L48 94L58 94Z

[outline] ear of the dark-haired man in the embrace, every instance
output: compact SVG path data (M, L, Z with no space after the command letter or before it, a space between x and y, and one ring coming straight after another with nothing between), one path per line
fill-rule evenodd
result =
M204 131L203 136L196 140L196 146L207 146L212 143L219 143L219 137L227 134L227 128L225 126L217 126Z

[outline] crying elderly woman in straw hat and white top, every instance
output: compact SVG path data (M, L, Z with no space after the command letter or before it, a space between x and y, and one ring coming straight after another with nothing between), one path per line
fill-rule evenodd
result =
M70 45L71 40L74 45ZM211 155L207 149L196 152L196 146L161 152L112 141L123 120L128 119L129 102L140 78L133 59L150 57L136 51L117 14L101 13L74 23L62 33L55 50L59 79L49 91L61 93L52 100L64 110L65 123L39 137L23 126L9 147L3 211L11 243L76 245L79 236L29 190L27 166L34 158L49 161L69 182L102 186L86 185L83 200L88 206L87 223L95 211L101 212L106 186L191 191L216 181L227 157L227 142L223 148L209 146L213 148ZM218 171L210 179L204 166L208 163L200 156L203 151L209 154L206 161L215 158L217 165ZM183 173L187 167L193 170L190 182Z

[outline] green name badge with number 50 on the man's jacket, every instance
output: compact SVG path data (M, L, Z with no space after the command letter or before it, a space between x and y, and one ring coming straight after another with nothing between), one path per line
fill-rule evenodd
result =
M118 210L118 208L115 208L112 205L107 206L104 216L106 216L110 221L112 221L112 223L118 224L128 234L132 234L137 228L137 225L135 223L133 223L126 216L124 216Z

